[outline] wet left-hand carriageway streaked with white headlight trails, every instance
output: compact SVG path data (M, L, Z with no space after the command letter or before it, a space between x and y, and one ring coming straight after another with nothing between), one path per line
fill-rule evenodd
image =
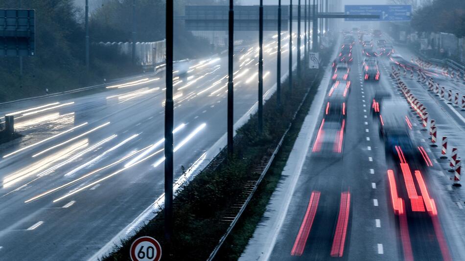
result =
M288 41L283 34L282 76ZM276 40L267 39L265 97L276 83L276 52ZM235 53L239 124L256 104L257 61L255 45ZM225 145L227 65L227 56L214 55L175 72L175 180L190 178ZM95 258L128 225L152 215L163 203L164 87L162 72L105 91L0 106L0 120L14 115L24 135L0 145L1 260Z

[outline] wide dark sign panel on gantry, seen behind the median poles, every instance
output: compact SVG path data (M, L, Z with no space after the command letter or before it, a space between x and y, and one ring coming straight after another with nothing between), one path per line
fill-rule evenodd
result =
M234 31L258 31L258 5L234 6ZM186 5L185 22L189 31L228 31L229 6ZM303 18L303 12L302 12ZM281 7L281 28L288 27L288 7ZM263 30L278 28L278 6L263 6Z

